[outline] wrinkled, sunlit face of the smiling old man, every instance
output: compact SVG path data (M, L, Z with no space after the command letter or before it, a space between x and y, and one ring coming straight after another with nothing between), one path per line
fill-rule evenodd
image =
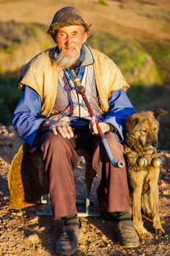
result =
M87 40L89 32L83 26L67 26L58 28L56 42L60 52L67 58L77 57L81 54L81 46Z

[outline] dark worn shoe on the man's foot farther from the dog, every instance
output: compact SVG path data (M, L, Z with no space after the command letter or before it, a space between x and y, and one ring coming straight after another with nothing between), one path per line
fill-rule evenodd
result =
M77 251L78 241L83 237L83 228L77 225L67 225L58 241L56 242L56 253L59 255L72 255Z

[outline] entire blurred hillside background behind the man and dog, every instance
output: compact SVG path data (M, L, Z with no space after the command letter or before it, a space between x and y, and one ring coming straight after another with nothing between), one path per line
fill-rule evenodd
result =
M67 0L62 3L0 0L0 123L11 123L11 113L22 95L16 86L21 65L38 52L54 46L46 35L47 24L56 9L68 4ZM92 23L88 44L120 66L131 85L128 96L135 109L162 107L169 110L169 114L161 118L160 134L160 148L168 149L170 33L167 1L75 0L72 5L81 9Z

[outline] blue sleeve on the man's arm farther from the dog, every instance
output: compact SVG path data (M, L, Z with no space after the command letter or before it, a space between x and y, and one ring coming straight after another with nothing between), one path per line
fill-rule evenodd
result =
M19 137L22 137L31 147L36 147L40 141L40 137L36 137L36 133L44 120L39 118L41 104L38 93L26 86L24 94L13 114L13 127L16 129Z

